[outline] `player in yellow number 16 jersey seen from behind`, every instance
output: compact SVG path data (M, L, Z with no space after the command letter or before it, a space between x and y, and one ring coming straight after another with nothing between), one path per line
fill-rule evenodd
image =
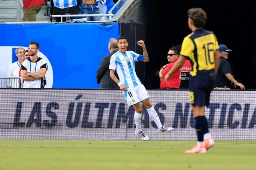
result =
M189 79L189 97L195 118L197 145L185 153L206 153L214 145L204 116L204 107L209 105L210 92L214 85L214 72L219 66L218 41L213 32L204 29L207 15L202 8L190 8L188 27L192 31L182 42L178 61L165 75L165 81L189 59L192 70Z

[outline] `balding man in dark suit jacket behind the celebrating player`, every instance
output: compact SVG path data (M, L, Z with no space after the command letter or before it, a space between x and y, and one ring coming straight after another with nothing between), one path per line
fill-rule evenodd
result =
M118 51L117 39L111 38L109 40L108 50L110 51L110 54L107 54L102 58L100 66L96 72L97 83L100 84L100 88L120 89L117 83L110 78L108 69L111 56Z

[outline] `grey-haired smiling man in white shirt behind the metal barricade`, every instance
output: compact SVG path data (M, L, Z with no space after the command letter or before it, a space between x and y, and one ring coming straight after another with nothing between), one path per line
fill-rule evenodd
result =
M24 53L25 49L24 48L17 48L15 50L15 54L18 57L18 61L15 61L14 63L11 63L8 68L7 72L7 77L18 77L19 76L19 71L21 67L21 63L24 61ZM19 81L19 80L15 80ZM19 84L15 83L15 81L7 81L7 87L8 88L19 88Z

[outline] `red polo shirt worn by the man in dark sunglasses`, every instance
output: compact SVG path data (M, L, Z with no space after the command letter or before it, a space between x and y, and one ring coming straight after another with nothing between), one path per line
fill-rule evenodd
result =
M176 63L176 61L167 64L165 69L162 71L163 76L165 76L171 70L171 68L173 67L174 63ZM181 85L180 75L181 75L181 70L176 71L171 76L171 78L168 79L168 83L165 82L164 78L161 79L160 88L180 88L180 85Z

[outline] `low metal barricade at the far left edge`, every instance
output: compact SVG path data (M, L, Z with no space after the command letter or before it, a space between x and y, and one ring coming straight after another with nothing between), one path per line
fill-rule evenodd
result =
M22 77L0 77L0 88L23 88Z

